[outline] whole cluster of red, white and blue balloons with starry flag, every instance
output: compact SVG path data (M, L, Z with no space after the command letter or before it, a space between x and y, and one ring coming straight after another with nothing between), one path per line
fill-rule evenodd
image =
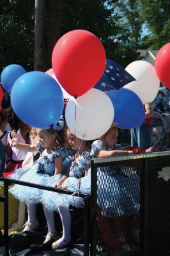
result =
M11 93L15 113L26 124L52 127L63 112L64 99L69 99L65 110L68 127L82 140L95 140L112 122L123 129L143 124L143 104L155 99L160 81L170 88L169 52L170 44L160 49L155 67L147 61L134 61L124 69L106 59L97 36L77 29L58 40L47 72L26 73L13 64L4 68L1 83ZM0 101L2 95L0 87Z

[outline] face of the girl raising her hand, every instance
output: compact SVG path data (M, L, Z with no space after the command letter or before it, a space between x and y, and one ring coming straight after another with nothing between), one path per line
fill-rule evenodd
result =
M44 130L38 131L38 137L42 143L43 148L50 147L56 139L56 136L54 134L49 134L47 131Z

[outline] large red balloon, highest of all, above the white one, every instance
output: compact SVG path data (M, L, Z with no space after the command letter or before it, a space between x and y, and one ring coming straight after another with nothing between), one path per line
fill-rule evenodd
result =
M78 97L98 82L105 68L105 50L100 40L86 30L63 35L52 52L52 68L66 92Z

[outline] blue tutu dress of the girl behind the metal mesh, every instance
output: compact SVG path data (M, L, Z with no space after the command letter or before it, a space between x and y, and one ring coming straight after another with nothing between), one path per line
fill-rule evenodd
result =
M91 157L97 157L100 150L122 148L119 144L111 148L103 141L96 140L91 145ZM124 171L121 166L116 170L114 163L112 166L98 168L97 204L102 207L102 214L106 216L123 216L139 212L139 175Z

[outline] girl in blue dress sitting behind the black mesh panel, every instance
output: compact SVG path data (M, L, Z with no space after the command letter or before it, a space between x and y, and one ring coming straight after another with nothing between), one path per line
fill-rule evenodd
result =
M110 129L91 145L91 157L125 156L133 153L131 150L123 150L121 145L116 143L117 139L118 126L112 124ZM118 236L122 250L129 250L130 247L125 238L124 216L139 211L139 204L137 204L139 198L134 198L134 195L129 190L134 183L130 182L130 177L121 172L121 168L116 170L114 166L98 168L97 175L98 214L100 214L100 218L102 216L112 218L114 232ZM111 234L107 235L111 237ZM109 247L112 246L111 244L107 245Z

